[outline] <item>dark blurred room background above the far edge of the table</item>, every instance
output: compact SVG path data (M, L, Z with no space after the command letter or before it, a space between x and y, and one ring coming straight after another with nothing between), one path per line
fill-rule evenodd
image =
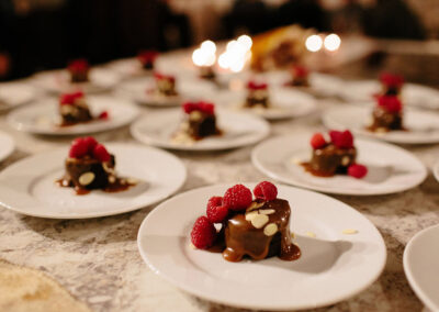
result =
M1 0L0 80L293 23L372 41L361 66L409 60L402 74L439 86L439 0Z

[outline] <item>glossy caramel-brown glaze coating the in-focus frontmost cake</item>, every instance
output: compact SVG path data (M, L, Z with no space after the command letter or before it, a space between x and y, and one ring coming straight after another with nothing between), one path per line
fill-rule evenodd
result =
M251 209L247 209L247 212ZM290 233L290 204L286 200L275 199L264 202L257 210L274 210L269 214L269 221L266 225L274 223L278 232L274 235L267 236L263 227L256 229L250 221L246 220L245 213L237 213L224 226L224 239L226 248L223 250L223 257L228 261L240 261L245 255L260 260L267 257L278 256L282 260L291 261L301 256L300 248L291 242Z

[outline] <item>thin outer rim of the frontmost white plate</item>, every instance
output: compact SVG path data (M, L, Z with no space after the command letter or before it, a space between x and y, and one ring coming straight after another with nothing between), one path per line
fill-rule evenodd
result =
M243 181L243 183L245 183L246 186L249 186L249 185L252 186L252 185L256 185L257 182L246 182L246 181ZM155 209L154 211L149 212L149 213L145 216L145 219L142 221L142 224L140 224L139 230L138 230L138 232L137 232L137 249L138 249L138 252L139 252L139 254L140 254L142 259L144 260L144 263L148 266L148 268L149 268L154 274L156 274L156 275L159 276L160 278L165 279L165 280L166 280L167 282L169 282L170 285L177 287L177 288L180 289L181 291L188 292L188 293L190 293L190 294L192 294L192 296L195 296L195 297L199 297L199 298L202 298L202 299L204 299L204 300L212 301L212 302L215 302L215 303L225 304L225 305L235 307L235 308L240 308L240 309L286 311L286 310L291 310L291 309L294 309L294 310L295 310L295 309L303 310L303 309L323 308L323 307L328 307L328 305L330 305L330 304L335 304L335 303L340 302L340 301L342 301L342 300L347 300L347 299L349 299L349 298L352 298L352 297L354 297L354 296L361 293L362 291L364 291L367 288L369 288L373 282L375 282L375 281L380 278L380 276L381 276L382 272L384 271L384 269L385 269L385 264L386 264L386 259L387 259L387 247L386 247L386 245L385 245L385 241L384 241L384 238L383 238L381 232L380 232L380 231L378 230L378 227L372 223L372 221L370 221L365 215L363 215L361 212L359 212L358 210L356 210L353 207L351 207L351 205L349 205L349 204L347 204L347 203L345 203L345 202L342 202L342 201L340 201L340 200L337 200L337 199L335 199L335 198L333 198L333 197L330 197L330 196L327 196L327 194L324 194L324 193L319 193L319 192L316 192L316 191L313 191L313 190L307 190L307 189L297 188L297 187L294 187L294 186L289 186L289 185L284 185L284 183L278 183L278 187L281 187L281 188L290 188L290 189L294 189L295 191L300 191L300 192L313 193L314 196L325 198L326 200L336 202L337 204L341 204L341 205L344 207L344 209L351 210L353 213L356 213L357 215L359 215L360 218L362 218L365 222L368 222L369 225L371 225L371 226L376 231L378 236L379 236L379 238L380 238L380 245L381 245L380 247L382 248L382 252L383 252L383 259L382 259L382 261L381 261L381 267L376 270L376 274L373 276L373 278L370 279L370 281L369 281L367 285L364 285L363 287L359 288L359 289L358 289L356 292L353 292L353 293L350 293L350 294L348 294L348 296L342 296L342 297L339 297L339 298L335 298L334 300L327 301L326 303L323 303L323 304L320 304L320 305L315 305L315 304L313 304L313 305L306 305L306 307L305 307L305 305L304 305L304 307L291 307L291 305L289 305L289 307L278 307L278 308L273 308L273 307L271 307L271 305L260 307L260 305L251 305L251 304L237 304L237 303L235 303L235 302L234 302L233 304L230 304L230 302L226 302L226 301L223 301L223 300L216 300L215 298L212 298L212 297L209 297L209 296L204 296L204 294L200 294L200 293L196 292L195 289L193 289L193 288L188 288L188 285L182 285L181 282L178 282L178 281L176 281L175 279L168 277L167 275L164 275L162 272L160 272L160 270L159 270L158 268L156 268L156 267L154 266L154 264L151 264L151 261L148 259L148 257L146 256L145 252L144 252L143 248L140 247L140 246L142 246L142 234L143 234L143 232L145 231L144 229L147 226L146 223L148 222L149 218L151 218L150 215L155 215L156 213L159 213L160 209L162 209L162 207L164 207L165 204L167 204L168 201L170 201L170 200L176 200L176 201L177 201L180 197L184 197L184 196L188 196L188 194L191 194L191 193L196 193L196 192L199 192L199 191L203 191L203 190L205 190L205 189L211 189L211 188L219 188L219 187L227 188L227 187L229 187L230 185L232 185L232 183L214 183L214 185L209 185L209 186L199 187L199 188L195 188L195 189L190 189L190 190L187 190L187 191L184 191L184 192L180 192L180 193L178 193L178 194L176 194L176 196L173 196L173 197L171 197L171 198L168 198L166 201L161 202L159 205L156 207L156 209Z

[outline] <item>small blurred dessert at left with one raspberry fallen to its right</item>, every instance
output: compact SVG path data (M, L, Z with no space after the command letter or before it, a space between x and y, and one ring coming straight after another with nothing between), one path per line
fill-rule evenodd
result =
M106 111L101 112L99 116L94 118L81 91L60 96L58 112L61 118L61 126L86 123L97 119L105 120L109 118Z

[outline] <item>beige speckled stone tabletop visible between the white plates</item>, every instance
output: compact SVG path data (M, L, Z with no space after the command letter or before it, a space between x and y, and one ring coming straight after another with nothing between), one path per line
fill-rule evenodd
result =
M273 123L271 136L322 130L319 113L340 105L344 103L336 100L320 101L319 112L313 116ZM5 124L4 116L0 118L0 129L16 141L16 151L1 168L27 155L65 146L71 140L19 133ZM134 142L127 127L98 134L97 138ZM176 153L189 172L181 191L216 182L263 179L251 165L251 148ZM439 160L438 145L407 149L429 168ZM336 198L376 225L387 246L387 264L367 290L322 311L420 311L423 305L405 278L402 256L413 235L439 222L439 183L429 174L421 186L406 192ZM137 252L136 236L153 209L74 221L37 219L0 209L0 258L46 272L93 311L241 311L189 296L148 269Z

